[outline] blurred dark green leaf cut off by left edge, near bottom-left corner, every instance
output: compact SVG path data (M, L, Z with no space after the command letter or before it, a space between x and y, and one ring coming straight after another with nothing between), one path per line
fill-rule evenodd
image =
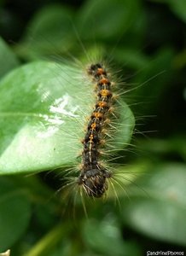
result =
M29 223L30 213L26 191L15 189L0 195L1 250L6 250L20 239Z

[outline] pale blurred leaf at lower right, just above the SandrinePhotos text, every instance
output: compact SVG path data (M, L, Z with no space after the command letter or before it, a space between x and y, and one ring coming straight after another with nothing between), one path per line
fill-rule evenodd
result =
M186 166L170 163L149 169L152 176L137 184L147 195L132 197L125 205L123 220L147 236L185 245Z

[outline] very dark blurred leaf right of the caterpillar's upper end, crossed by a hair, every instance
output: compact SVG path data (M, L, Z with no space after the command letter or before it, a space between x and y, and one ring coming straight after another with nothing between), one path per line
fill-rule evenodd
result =
M167 88L170 88L173 74L173 54L172 49L159 49L152 61L146 61L146 65L132 79L133 84L139 84L137 90L131 90L131 96L142 101L140 114L156 113L155 108L159 106L161 96L169 90Z

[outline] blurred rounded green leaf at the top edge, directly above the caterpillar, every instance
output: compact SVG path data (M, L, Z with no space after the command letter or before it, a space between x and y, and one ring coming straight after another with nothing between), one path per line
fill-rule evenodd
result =
M78 28L83 38L114 38L122 35L140 11L134 0L86 1L77 17Z

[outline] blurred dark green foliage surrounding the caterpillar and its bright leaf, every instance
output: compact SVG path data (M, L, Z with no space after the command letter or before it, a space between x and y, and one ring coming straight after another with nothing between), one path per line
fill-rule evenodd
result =
M62 183L57 172L5 176L0 170L0 253L9 248L13 256L185 250L185 22L184 0L0 2L1 83L11 76L19 86L23 77L16 68L23 63L102 55L121 71L128 90L124 98L137 119L135 149L125 152L125 166L119 167L125 187L117 188L118 199L86 202L88 218L80 199L66 202L55 195ZM16 101L15 91L3 92L1 108L9 98ZM6 134L11 143L9 127L1 128L0 137Z

